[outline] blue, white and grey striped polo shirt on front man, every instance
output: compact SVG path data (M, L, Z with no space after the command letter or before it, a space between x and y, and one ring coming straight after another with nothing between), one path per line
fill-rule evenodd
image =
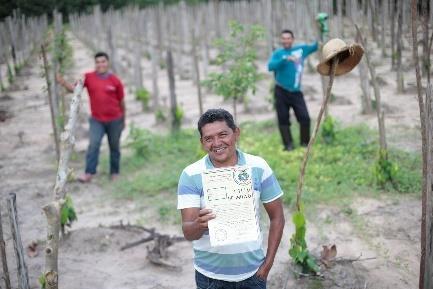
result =
M256 197L257 222L260 224L260 202L269 203L283 195L281 187L269 165L260 157L237 151L238 166L252 168ZM201 174L214 166L206 155L186 167L179 180L178 209L204 208ZM265 259L263 236L256 241L211 247L209 231L193 241L194 268L201 274L218 280L239 282L253 276Z

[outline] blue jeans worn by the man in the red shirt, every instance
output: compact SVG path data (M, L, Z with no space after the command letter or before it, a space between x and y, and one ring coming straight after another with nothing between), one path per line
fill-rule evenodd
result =
M101 141L105 134L107 134L108 146L110 147L110 174L118 174L123 117L109 122L101 122L90 117L89 123L90 141L86 154L86 174L96 174Z

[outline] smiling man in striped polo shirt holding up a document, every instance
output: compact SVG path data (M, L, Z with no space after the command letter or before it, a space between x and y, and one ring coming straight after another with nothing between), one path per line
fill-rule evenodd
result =
M193 241L197 289L262 289L274 262L284 229L283 192L271 168L260 157L236 148L240 129L224 109L210 109L198 121L200 142L207 155L186 167L179 180L178 209L182 230ZM253 173L256 212L263 203L270 219L268 246L257 241L211 247L208 221L215 214L204 207L202 173L213 168L249 166Z

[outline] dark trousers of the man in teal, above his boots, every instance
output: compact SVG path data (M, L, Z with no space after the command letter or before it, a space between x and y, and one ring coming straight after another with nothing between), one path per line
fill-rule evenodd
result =
M275 85L275 109L277 110L279 125L290 125L291 108L300 125L310 126L310 115L305 104L304 94L301 91L290 92Z

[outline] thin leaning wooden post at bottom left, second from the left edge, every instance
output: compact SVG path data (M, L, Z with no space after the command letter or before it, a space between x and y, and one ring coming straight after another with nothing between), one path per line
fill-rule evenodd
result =
M21 233L18 223L17 203L16 195L14 193L9 194L8 198L8 210L11 225L11 233L14 241L15 258L17 261L17 274L18 274L18 288L19 289L30 289L29 276L27 273L27 266L24 259L23 243L21 241Z

